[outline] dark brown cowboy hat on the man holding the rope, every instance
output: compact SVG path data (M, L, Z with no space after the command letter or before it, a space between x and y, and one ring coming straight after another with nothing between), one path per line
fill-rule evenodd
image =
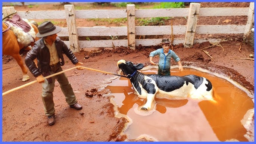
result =
M38 26L38 31L39 32L37 33L36 36L41 38L41 37L46 37L48 35L57 34L58 32L61 31L61 27L57 25L55 26L50 21L46 21Z

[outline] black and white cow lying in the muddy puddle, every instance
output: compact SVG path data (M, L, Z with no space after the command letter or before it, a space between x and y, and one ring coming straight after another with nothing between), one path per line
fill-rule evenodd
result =
M142 110L150 110L154 97L167 99L213 99L212 83L200 76L160 76L157 74L144 74L137 70L144 67L142 63L134 65L132 62L119 60L118 68L128 76L134 88L134 93L140 98L147 98Z

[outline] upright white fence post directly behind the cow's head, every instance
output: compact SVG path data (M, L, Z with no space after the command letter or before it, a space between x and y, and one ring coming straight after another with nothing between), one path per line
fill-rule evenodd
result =
M126 8L128 47L135 50L135 5L127 4Z

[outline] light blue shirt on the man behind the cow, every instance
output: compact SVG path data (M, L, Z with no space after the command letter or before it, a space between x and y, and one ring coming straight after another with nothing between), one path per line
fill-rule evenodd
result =
M169 50L168 54L165 56L165 53L163 52L163 48L159 48L155 51L152 51L149 56L154 57L156 55L159 55L159 62L158 65L161 69L166 70L170 69L171 67L171 57L174 59L176 62L178 62L180 59L177 56L177 54L174 53L174 51Z

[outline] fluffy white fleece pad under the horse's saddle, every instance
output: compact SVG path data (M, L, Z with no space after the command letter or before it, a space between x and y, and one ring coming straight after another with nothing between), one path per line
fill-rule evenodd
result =
M13 26L8 21L6 21L6 22L11 25L13 33L17 36L18 42L21 43L21 44L24 44L25 46L29 46L31 41L34 41L33 38L35 38L35 30L27 19L23 19L23 20L26 23L28 23L29 26L31 26L31 29L28 32L24 32L21 28L19 28L17 26Z

